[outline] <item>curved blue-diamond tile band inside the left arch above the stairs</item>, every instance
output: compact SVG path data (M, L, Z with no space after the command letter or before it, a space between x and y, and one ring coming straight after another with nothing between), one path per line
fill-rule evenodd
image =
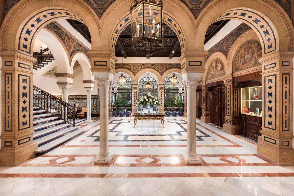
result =
M19 36L18 49L30 54L34 35L41 28L41 26L46 24L48 21L52 21L57 18L61 19L62 17L67 17L82 22L82 19L80 19L71 11L65 9L47 9L40 11L32 16L28 21L26 21L25 25L23 26Z

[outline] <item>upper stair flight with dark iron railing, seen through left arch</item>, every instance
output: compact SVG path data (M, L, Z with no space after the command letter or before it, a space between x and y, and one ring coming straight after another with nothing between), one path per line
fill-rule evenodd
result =
M35 70L44 67L44 65L48 65L48 63L51 63L55 60L49 48L45 48L44 50L42 50L42 47L40 49L40 52L33 53L33 57L37 59L36 63L33 64L33 69Z

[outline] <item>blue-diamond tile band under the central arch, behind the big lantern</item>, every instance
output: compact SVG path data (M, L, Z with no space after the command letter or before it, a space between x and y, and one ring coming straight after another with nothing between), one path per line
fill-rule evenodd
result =
M154 13L156 14L156 13ZM184 33L183 30L181 29L181 26L178 24L178 22L169 14L164 13L164 21L165 24L167 24L171 29L173 29L173 31L176 33L178 40L180 42L180 46L181 46L181 52L183 53L186 50L186 42L185 42L185 37L184 37ZM128 26L129 24L131 24L131 14L127 14L126 16L124 16L116 25L116 27L114 28L115 30L113 31L112 35L111 35L111 51L115 52L115 44L116 41L119 37L119 35L121 34L121 32L126 28L126 26Z

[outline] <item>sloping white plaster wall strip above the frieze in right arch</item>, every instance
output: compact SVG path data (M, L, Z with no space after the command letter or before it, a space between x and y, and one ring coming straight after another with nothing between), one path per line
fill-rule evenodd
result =
M208 51L212 46L216 45L216 43L227 36L240 24L242 24L242 21L230 20L222 29L220 29L220 31L218 31L208 42L206 42L204 45L204 50Z

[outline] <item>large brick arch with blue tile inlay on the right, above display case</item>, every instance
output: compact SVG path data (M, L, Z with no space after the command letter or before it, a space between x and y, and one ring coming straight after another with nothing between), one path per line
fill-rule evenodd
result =
M263 55L293 50L293 26L287 13L273 0L213 0L197 19L197 50L203 51L205 32L216 21L235 19L258 35Z

